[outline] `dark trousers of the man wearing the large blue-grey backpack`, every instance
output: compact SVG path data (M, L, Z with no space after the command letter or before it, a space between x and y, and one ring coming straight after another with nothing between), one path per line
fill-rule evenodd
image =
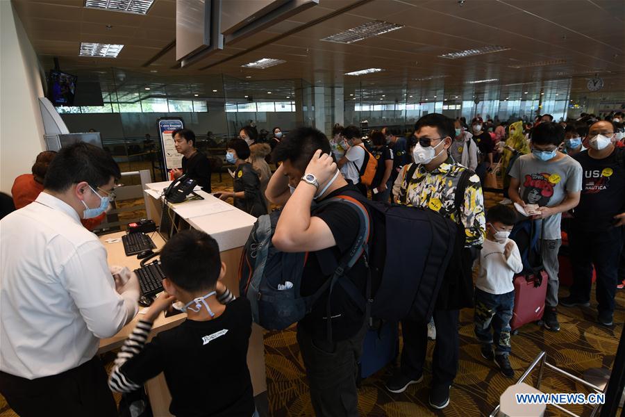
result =
M367 328L365 323L355 336L329 343L297 326L297 343L317 416L358 417L358 360Z

